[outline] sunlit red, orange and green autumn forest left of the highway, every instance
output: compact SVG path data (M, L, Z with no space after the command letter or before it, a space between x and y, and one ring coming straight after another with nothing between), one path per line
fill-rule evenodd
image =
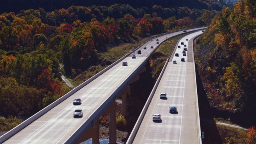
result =
M0 14L0 115L30 116L48 106L70 91L61 74L74 78L91 66L104 67L99 53L108 48L146 33L208 25L215 14L156 5L146 14L118 4Z

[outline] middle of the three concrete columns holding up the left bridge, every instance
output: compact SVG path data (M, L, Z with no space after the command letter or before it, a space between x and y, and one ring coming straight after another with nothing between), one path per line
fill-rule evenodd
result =
M110 111L108 144L117 144L116 142L116 110Z

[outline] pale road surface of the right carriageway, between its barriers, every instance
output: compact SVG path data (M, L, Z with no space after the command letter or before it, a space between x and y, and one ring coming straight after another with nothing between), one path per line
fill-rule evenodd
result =
M176 48L164 71L162 79L151 100L142 124L133 141L134 144L197 144L198 125L196 117L196 96L194 63L187 62L192 56L192 44L188 41L202 31L185 36L180 40L188 48L188 56L182 55L181 48ZM186 40L188 39L188 40ZM185 58L185 62L181 62ZM177 64L172 61L176 60ZM167 93L167 99L160 99L160 93ZM169 107L176 106L177 114L169 113ZM161 114L162 121L153 122L152 115Z

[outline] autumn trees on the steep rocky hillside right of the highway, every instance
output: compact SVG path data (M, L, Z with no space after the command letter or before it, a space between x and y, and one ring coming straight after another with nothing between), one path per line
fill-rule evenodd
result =
M198 42L198 71L210 106L248 127L256 125L255 16L255 0L241 0L218 13Z

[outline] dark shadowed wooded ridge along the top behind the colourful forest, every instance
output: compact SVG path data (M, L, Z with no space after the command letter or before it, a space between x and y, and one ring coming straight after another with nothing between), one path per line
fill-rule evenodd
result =
M114 4L129 4L133 8L152 8L162 6L163 8L188 7L190 9L206 9L220 11L225 6L231 6L226 0L1 0L0 13L15 12L27 9L43 8L46 12L68 8L70 6L111 6ZM148 13L147 11L146 13Z

